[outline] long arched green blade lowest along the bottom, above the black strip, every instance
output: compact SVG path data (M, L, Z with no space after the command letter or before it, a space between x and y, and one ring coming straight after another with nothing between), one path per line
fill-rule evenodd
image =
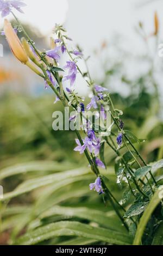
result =
M131 244L129 235L105 228L92 227L91 225L75 221L61 221L37 228L36 230L30 231L26 235L21 236L17 239L15 244L35 245L41 241L52 239L57 236L79 236L115 245Z

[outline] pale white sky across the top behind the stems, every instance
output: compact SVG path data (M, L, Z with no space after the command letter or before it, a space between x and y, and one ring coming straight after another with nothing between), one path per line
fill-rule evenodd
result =
M112 35L122 34L126 48L141 51L140 38L134 31L142 21L147 34L154 30L154 12L157 11L163 42L163 0L24 0L24 14L15 11L18 18L40 29L47 38L55 23L64 23L74 43L91 54L103 40L110 41ZM149 2L147 5L142 5ZM141 6L140 6L141 5ZM11 16L10 16L11 17ZM0 17L0 26L3 20ZM62 63L66 58L62 59ZM96 72L97 63L90 60L91 70ZM77 81L77 87L80 81ZM80 91L79 86L79 91ZM82 87L82 90L84 88Z

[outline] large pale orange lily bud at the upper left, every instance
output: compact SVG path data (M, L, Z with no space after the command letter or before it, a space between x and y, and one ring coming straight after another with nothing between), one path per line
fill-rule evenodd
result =
M22 47L21 41L18 39L18 36L12 28L11 23L7 19L4 20L4 33L12 53L18 60L20 60L20 62L26 64L28 62L28 56Z

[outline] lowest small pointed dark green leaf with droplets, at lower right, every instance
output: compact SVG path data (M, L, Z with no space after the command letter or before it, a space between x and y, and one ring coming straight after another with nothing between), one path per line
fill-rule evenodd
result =
M132 216L136 216L145 211L148 202L139 202L130 206L130 208L124 214L124 218L130 218Z

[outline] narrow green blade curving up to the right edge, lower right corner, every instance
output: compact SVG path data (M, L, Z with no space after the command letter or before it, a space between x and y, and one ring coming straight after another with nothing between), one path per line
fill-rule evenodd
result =
M145 210L145 212L143 213L143 215L140 219L133 245L140 245L141 238L142 238L143 232L146 228L146 225L147 225L149 219L151 218L151 215L152 215L154 209L161 202L162 198L163 198L163 187L160 186L158 188L158 190L154 193L150 203L147 206L147 209Z

